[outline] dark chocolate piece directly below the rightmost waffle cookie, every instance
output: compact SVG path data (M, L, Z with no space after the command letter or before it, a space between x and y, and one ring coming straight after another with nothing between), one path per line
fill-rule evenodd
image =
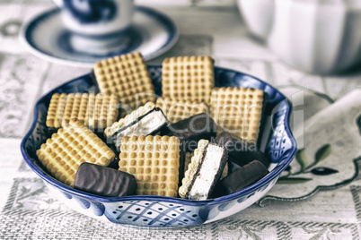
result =
M228 162L231 162L233 166L231 171L235 170L232 169L234 167L238 168L233 163L242 167L253 160L259 160L265 167L269 167L270 159L257 148L256 142L242 140L242 138L228 132L219 134L215 141L216 144L225 146L225 149L228 151Z

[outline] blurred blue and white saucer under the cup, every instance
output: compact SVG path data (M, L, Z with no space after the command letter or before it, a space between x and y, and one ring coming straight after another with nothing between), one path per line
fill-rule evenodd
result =
M133 24L121 33L119 45L106 49L101 48L101 42L98 47L75 47L82 46L84 39L66 30L59 9L40 13L20 33L22 43L34 56L81 67L93 67L104 58L129 52L140 52L145 60L150 60L169 50L178 37L178 28L168 16L145 6L136 6Z

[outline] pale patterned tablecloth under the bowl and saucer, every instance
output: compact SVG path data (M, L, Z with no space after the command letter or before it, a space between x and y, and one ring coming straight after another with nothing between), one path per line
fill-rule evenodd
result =
M53 7L50 1L0 0L0 239L360 239L361 73L321 77L283 64L251 38L231 0L166 2L136 2L169 14L181 30L178 43L150 64L210 55L216 65L277 86L302 113L304 122L294 121L300 151L283 183L259 204L198 227L121 227L67 209L26 166L19 146L35 101L90 69L45 62L18 42L22 23Z

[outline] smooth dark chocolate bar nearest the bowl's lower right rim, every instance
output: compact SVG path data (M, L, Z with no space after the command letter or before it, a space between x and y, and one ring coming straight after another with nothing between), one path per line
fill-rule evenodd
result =
M254 160L251 163L238 168L225 176L220 181L223 194L231 194L259 181L263 176L269 174L269 170L260 161Z

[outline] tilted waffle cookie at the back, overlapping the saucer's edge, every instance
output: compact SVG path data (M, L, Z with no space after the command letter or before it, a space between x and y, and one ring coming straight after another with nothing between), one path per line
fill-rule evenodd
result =
M95 64L94 74L102 93L117 94L119 102L131 109L155 101L145 60L138 52L102 60ZM128 107L123 107L125 112Z

